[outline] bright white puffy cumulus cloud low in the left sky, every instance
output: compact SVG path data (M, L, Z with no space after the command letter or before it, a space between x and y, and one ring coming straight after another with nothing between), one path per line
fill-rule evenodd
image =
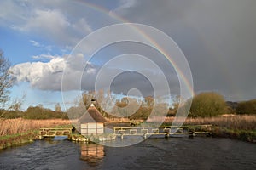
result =
M68 89L77 88L79 77L88 74L95 74L96 68L89 66L84 71L84 59L81 55L74 55L72 58L46 56L51 58L49 62L27 62L15 65L11 71L17 78L18 82L29 82L32 88L41 90L61 90L61 80L63 71L67 73Z

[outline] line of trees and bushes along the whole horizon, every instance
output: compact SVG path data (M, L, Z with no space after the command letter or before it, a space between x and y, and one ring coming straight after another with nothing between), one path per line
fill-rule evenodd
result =
M24 118L24 119L76 119L82 116L86 109L91 104L91 99L95 98L95 92L84 92L82 99L79 100L77 105L67 109L67 112L61 111L61 105L55 105L55 111L44 108L43 105L30 106L26 111L20 110L0 110L1 118ZM113 97L112 97L113 98ZM102 98L103 99L103 98ZM189 110L190 117L212 117L223 114L256 114L256 99L242 101L242 102L226 102L221 94L215 92L204 92L196 94L192 100ZM172 105L167 103L156 103L152 96L145 97L143 100L138 100L128 97L114 100L114 107L112 112L106 112L102 109L99 101L96 100L94 105L102 113L102 116L113 117L127 117L129 119L148 119L152 113L162 115L165 111L166 116L176 116L178 109L178 100L174 100ZM130 107L124 109L131 103ZM101 103L104 105L104 102ZM184 104L186 106L187 103ZM181 105L180 107L183 107ZM129 113L129 111L131 113ZM128 114L127 114L128 112ZM67 116L68 115L68 116Z

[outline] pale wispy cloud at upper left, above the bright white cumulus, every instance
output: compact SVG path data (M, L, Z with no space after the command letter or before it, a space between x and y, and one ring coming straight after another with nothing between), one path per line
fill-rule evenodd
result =
M65 14L58 9L36 9L24 25L16 26L15 29L26 32L43 34L62 46L70 46L79 41L79 34L88 34L91 28L84 18L68 20Z

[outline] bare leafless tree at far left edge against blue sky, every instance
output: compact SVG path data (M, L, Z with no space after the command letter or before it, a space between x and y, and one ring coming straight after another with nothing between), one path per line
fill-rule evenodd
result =
M15 83L15 77L9 71L10 63L3 57L3 51L0 49L0 108L9 99L9 88Z

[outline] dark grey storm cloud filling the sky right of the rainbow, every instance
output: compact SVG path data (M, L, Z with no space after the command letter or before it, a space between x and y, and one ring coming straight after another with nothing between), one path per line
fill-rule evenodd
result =
M256 94L255 6L250 0L142 0L116 14L172 37L189 61L195 91L243 100Z

